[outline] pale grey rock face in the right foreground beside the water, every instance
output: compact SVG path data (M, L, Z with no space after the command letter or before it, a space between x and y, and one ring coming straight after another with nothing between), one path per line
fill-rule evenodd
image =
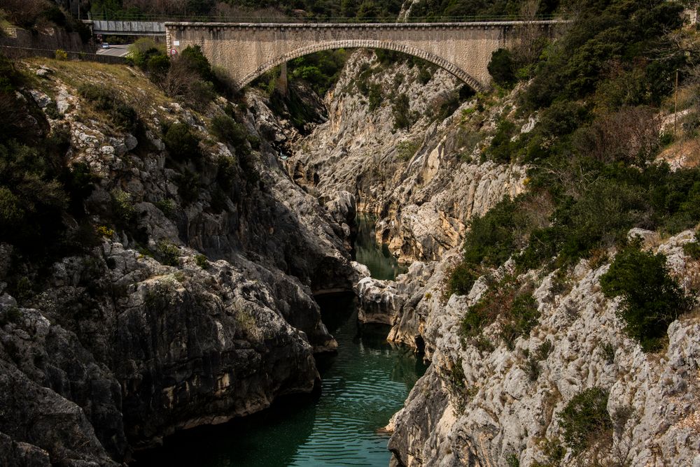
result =
M691 239L687 231L655 247L682 278L692 278L698 267L682 252ZM554 273L538 280L533 296L539 324L530 336L518 338L512 351L500 343L498 323L484 331L493 350L461 343L461 317L484 292L484 282L445 305L423 299L426 303L416 308L425 310L421 334L432 365L392 419L389 448L395 461L405 466L501 466L509 459L525 466L546 463L551 461L547 440L562 433L556 414L583 389L601 387L610 391L612 440L588 458L569 452L561 465L582 465L595 454L598 461L619 462L610 465L700 463L700 324L692 315L682 317L668 328L667 350L659 356L643 353L622 332L615 316L619 299L603 297L599 278L607 270L608 265L582 261L564 290L554 284ZM438 291L428 287L426 294L431 292ZM528 356L545 341L549 352L537 362L536 373L528 372ZM461 371L455 373L454 366ZM454 375L461 372L458 388Z

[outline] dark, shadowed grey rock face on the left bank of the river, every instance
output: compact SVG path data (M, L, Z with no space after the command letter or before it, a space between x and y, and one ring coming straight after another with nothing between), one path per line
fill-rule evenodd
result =
M238 118L258 150L209 135L227 102L205 117L136 72L134 88L108 72L99 82L137 106L139 134L80 117L90 103L64 73L27 96L59 103L65 115L45 126L99 177L85 210L100 238L41 274L20 267L26 296L8 292L18 264L0 245L0 464L117 465L175 430L311 391L313 354L337 347L313 296L358 278L353 195L329 213L290 180L276 148L295 130L254 92ZM178 121L200 135L202 160L165 151L160 124Z

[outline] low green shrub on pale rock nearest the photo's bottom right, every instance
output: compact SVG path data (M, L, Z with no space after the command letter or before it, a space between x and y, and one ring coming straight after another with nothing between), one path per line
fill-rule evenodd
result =
M571 398L558 414L564 443L578 453L612 436L608 391L591 387Z

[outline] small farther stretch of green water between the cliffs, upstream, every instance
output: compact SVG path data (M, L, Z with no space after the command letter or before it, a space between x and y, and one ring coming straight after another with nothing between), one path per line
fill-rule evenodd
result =
M370 268L372 278L395 279L405 273L407 268L399 266L396 258L389 252L386 245L378 245L374 236L374 224L377 217L369 214L357 216L357 238L355 239L355 259Z

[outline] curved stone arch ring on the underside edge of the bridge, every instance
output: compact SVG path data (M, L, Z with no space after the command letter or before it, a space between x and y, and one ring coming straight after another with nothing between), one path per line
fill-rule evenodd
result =
M402 43L393 43L388 41L370 41L364 39L350 39L346 41L326 41L321 43L315 43L313 45L307 45L302 48L297 48L291 52L287 52L279 57L276 57L270 62L258 66L255 71L248 73L246 76L241 78L237 85L239 88L249 85L255 78L262 76L267 71L273 69L275 66L281 65L285 62L289 62L298 57L304 55L309 55L315 52L321 52L323 50L333 50L333 49L349 49L349 48L372 48L372 49L386 49L393 50L395 52L402 52L407 55L413 55L414 57L421 58L439 66L451 75L455 76L459 80L465 82L465 84L475 89L477 92L484 92L486 89L484 86L475 78L470 76L469 73L459 68L455 64L447 61L446 59L439 57L431 52L426 52L426 50L421 50L419 48L412 47L410 45L405 45Z

